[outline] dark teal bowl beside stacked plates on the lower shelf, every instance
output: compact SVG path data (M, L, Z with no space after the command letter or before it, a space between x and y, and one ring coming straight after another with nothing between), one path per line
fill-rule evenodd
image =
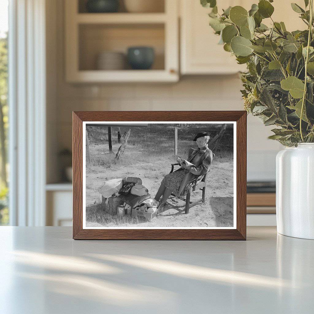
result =
M127 50L127 60L133 70L148 70L155 60L153 47L130 47Z

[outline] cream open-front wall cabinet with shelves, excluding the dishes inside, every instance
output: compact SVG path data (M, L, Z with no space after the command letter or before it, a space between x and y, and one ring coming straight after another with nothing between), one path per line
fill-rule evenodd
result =
M118 13L86 13L85 0L67 0L66 80L71 83L178 81L177 2L162 3L163 12L156 13L127 13L123 7ZM124 67L116 67L123 70L98 69L100 53L120 52L127 60L127 49L134 46L154 48L150 69L133 70L128 62Z

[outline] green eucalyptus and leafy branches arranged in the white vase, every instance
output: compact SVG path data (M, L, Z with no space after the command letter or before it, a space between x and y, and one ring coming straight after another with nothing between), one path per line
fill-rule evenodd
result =
M220 44L246 63L241 73L241 90L248 113L260 117L265 125L277 126L269 138L285 146L314 142L314 40L313 0L304 7L291 3L306 30L288 32L283 22L272 19L273 0L218 12L216 0L201 0L212 8L209 24L220 36ZM269 19L271 27L263 24Z

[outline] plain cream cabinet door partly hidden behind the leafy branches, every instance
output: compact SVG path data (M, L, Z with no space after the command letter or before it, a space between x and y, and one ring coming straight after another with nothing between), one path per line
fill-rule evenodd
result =
M219 11L229 6L251 8L252 1L218 2ZM219 36L209 26L208 13L199 0L181 0L181 74L228 74L245 70L235 56L218 45Z

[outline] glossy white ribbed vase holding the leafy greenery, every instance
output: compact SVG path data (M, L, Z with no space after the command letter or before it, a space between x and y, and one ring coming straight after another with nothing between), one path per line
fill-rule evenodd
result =
M314 240L314 143L277 154L276 216L280 234Z

